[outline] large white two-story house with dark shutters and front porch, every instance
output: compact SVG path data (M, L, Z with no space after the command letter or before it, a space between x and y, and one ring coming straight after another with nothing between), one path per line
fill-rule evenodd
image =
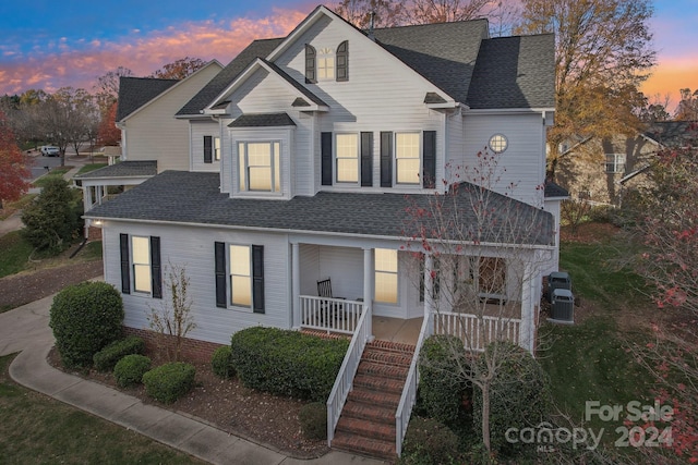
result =
M374 316L423 319L432 332L436 310L454 308L423 291L435 289L436 260L410 249L406 209L426 208L453 187L441 180L454 167L476 166L488 149L506 168L489 180L492 205L498 215L514 205L538 233L495 215L521 238L494 231L464 243L454 259L476 287L501 284L482 295L513 306L496 328L532 352L566 196L544 184L554 37L489 38L488 29L477 20L365 33L318 7L286 38L254 41L179 111L154 114L154 136L176 113L189 123L190 166L163 172L158 160L157 175L85 215L100 224L105 281L122 293L124 325L146 334L146 314L168 298L171 264L191 280L194 346L229 344L260 325L339 331L358 341L352 366ZM477 221L468 186L456 199L466 229ZM489 276L469 260L474 245L484 261L508 264L505 271ZM509 264L515 254L522 265ZM326 278L332 295L318 286ZM496 328L484 340L496 339ZM348 372L340 377L351 382ZM330 441L344 399L337 405ZM405 408L400 418L409 418L411 404Z

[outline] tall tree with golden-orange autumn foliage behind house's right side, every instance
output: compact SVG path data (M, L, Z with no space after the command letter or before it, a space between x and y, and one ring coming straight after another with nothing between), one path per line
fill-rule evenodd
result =
M655 63L650 0L522 0L520 33L554 33L555 125L549 174L571 136L631 133L638 88Z

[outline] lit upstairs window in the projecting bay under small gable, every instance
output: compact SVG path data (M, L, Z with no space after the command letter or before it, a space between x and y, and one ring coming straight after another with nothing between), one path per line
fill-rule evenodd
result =
M239 142L241 192L281 192L281 143Z

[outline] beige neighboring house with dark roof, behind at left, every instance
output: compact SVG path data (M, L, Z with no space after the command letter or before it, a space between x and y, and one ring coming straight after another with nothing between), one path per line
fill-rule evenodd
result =
M108 189L122 191L165 170L190 170L189 123L174 113L214 78L222 65L213 60L182 81L121 77L117 126L121 130L120 163L75 178L84 208L100 205ZM110 148L111 149L111 148ZM85 225L88 234L89 221Z

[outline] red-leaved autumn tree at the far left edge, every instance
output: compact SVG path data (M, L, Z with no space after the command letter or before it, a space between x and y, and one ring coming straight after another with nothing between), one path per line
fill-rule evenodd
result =
M8 120L0 111L0 208L3 200L16 200L28 188L26 157L16 145Z

